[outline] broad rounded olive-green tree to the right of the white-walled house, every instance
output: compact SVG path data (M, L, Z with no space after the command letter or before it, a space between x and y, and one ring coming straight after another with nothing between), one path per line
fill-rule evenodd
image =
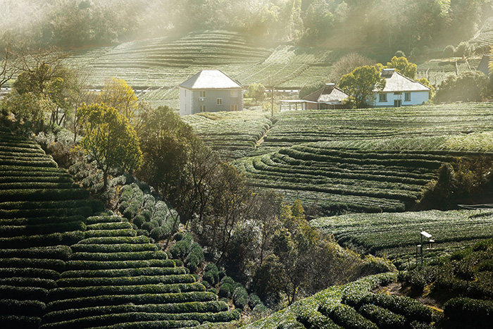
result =
M482 72L466 71L449 75L439 85L435 102L482 101L487 96L488 78Z

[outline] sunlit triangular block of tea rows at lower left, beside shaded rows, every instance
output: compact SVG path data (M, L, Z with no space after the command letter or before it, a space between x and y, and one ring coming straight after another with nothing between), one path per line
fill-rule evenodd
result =
M152 328L169 321L187 327L239 318L149 237L121 235L132 230L122 223L128 225L111 213L87 218L87 239L72 246L66 271L49 292L42 328Z

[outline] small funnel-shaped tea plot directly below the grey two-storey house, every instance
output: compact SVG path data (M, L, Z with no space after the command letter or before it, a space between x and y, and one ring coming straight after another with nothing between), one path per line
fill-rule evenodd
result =
M225 159L239 159L254 151L270 128L263 111L203 113L183 118L194 132Z

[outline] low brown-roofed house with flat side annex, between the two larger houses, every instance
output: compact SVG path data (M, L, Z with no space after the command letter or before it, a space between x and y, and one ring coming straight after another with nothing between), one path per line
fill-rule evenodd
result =
M333 83L309 94L303 99L281 101L281 111L286 110L324 110L327 108L347 108L344 101L349 97Z

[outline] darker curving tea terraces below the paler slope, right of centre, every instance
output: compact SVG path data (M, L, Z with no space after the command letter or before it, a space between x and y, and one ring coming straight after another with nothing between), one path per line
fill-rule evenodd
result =
M446 153L345 149L323 142L282 148L236 164L258 187L337 213L404 211L437 178L442 163L452 160Z

